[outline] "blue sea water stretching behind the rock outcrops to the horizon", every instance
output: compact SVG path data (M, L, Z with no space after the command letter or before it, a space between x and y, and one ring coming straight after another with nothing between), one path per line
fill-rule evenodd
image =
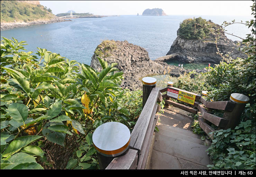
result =
M196 16L197 18L199 16ZM252 17L222 17L201 16L222 24L223 21L248 21ZM155 60L165 56L177 37L180 23L193 16L117 16L104 18L72 19L72 21L40 24L23 28L1 31L1 36L19 41L27 41L25 48L36 52L37 48L60 53L70 60L90 65L95 48L102 40L127 40L129 43L141 46L148 51L149 57ZM227 27L227 32L242 38L250 31L242 24ZM232 40L239 38L228 35ZM173 63L176 65L177 63ZM189 64L192 66L191 64ZM184 64L183 68L190 69ZM195 67L196 64L194 64ZM202 65L202 64L200 64ZM204 67L204 65L203 65ZM198 68L200 69L200 68Z

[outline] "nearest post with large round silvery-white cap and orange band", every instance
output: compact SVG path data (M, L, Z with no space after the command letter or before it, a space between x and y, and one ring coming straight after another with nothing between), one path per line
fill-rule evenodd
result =
M127 153L130 135L129 128L119 122L107 122L93 132L92 142L97 151L99 169L105 169L114 157Z

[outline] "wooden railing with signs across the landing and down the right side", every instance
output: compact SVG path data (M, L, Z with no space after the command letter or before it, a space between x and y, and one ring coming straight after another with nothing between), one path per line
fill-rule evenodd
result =
M188 94L195 95L195 99L197 101L194 101L194 105L193 105L194 108L171 101L171 98L176 100L177 98L168 96L167 94L164 94L163 98L166 98L165 104L167 107L168 105L173 105L175 107L186 110L193 114L197 114L197 112L199 111L201 113L201 115L198 117L199 125L204 130L204 132L206 132L208 135L210 132L213 132L215 130L207 124L207 121L218 126L219 129L228 129L228 128L234 129L235 126L238 125L240 121L240 115L243 112L244 106L245 106L245 104L239 104L234 101L206 101L199 94L181 90L175 87L166 87L161 89L160 92L165 92L167 91L167 89L171 89L175 91L183 91ZM212 109L224 110L225 113L223 117L218 117L216 115L212 115L209 113ZM212 138L212 134L210 134L209 136L210 138Z

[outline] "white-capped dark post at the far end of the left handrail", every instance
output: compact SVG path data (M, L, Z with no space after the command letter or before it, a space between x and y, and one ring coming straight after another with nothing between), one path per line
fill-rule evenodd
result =
M156 87L156 79L153 77L144 77L142 79L142 83L143 83L143 96L142 96L142 109L143 109L150 95L151 90L154 87Z

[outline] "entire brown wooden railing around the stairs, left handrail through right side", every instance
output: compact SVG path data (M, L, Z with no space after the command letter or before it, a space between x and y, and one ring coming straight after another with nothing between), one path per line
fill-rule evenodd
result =
M147 88L147 89L150 90L152 88ZM176 93L179 92L179 94L180 92L184 92L188 95L193 95L193 99L195 99L193 100L193 108L172 101L171 98L177 100L178 98L177 95L173 97L173 95L170 94L170 92L168 95L161 94L166 91L168 93L168 89L171 89ZM156 102L162 101L163 98L166 98L165 100L166 107L168 107L169 105L173 105L175 107L186 110L193 114L197 114L199 111L201 113L201 115L198 117L199 125L208 135L210 132L213 132L215 130L210 125L207 124L207 121L218 126L219 129L220 128L234 129L235 126L240 121L239 119L240 119L241 112L244 110L244 105L237 104L237 102L234 102L234 101L208 102L199 94L195 94L195 93L178 89L175 87L166 87L163 89L159 89L155 87L152 89L151 92L150 91L149 91L150 94L146 99L147 101L144 105L144 108L141 111L141 114L136 122L134 129L132 130L131 137L130 137L131 139L130 139L129 150L125 155L115 157L111 161L111 163L107 166L106 169L145 169L148 160L150 160L148 159L149 148L152 141L155 125L159 119L159 115L156 115L156 112L160 110L160 106L157 105ZM223 118L210 114L209 112L212 109L224 110L225 114L223 115ZM212 134L209 136L212 138Z

